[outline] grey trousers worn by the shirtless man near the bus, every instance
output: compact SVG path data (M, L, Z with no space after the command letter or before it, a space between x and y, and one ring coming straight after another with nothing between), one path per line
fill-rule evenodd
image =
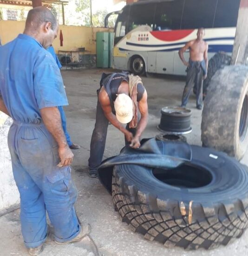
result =
M199 66L187 68L186 85L183 90L182 106L186 106L189 100L191 89L196 86L196 107L202 106L203 70Z

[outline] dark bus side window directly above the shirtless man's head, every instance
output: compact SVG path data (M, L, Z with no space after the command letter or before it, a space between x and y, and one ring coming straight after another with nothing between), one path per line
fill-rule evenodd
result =
M217 0L186 0L182 29L213 27Z

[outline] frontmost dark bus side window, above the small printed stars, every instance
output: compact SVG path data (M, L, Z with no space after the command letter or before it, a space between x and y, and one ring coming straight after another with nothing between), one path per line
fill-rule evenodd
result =
M155 4L144 3L131 6L128 32L141 25L148 25L152 28L154 12Z

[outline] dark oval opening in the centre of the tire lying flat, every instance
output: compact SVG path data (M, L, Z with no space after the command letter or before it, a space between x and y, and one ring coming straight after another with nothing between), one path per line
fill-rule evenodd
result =
M190 165L182 165L170 170L155 168L152 173L163 183L187 189L204 187L213 179L208 170Z

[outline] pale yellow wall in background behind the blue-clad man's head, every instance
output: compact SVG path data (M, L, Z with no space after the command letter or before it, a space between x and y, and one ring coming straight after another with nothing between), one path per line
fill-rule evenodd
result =
M2 44L13 40L18 34L23 33L24 21L0 20L0 39ZM63 47L60 46L60 30L63 34ZM89 51L85 54L96 54L96 33L98 31L112 31L110 28L103 27L83 27L83 26L59 26L58 37L53 42L53 47L58 50L72 51L79 47L85 47Z

